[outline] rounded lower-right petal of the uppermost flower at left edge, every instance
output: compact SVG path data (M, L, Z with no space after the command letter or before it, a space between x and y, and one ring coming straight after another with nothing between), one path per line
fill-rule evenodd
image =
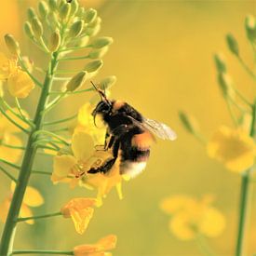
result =
M30 76L21 70L9 76L7 85L9 93L17 98L26 98L34 89L34 82Z

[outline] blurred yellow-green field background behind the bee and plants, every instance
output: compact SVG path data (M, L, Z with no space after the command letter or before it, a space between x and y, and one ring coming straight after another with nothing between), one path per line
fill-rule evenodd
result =
M37 3L35 0L2 1L0 49L7 51L3 35L14 34L23 54L44 67L43 55L38 54L22 34L26 9L36 7ZM212 61L216 51L225 54L237 88L249 99L253 98L255 86L228 52L224 36L228 32L236 35L242 56L252 65L244 19L249 13L256 14L256 2L91 0L81 3L97 7L102 19L101 35L112 36L115 40L95 79L115 74L117 83L112 88L112 97L128 101L143 115L167 123L177 132L178 140L157 141L146 170L124 183L124 199L120 201L112 191L101 209L96 209L83 236L74 232L72 222L55 217L33 226L19 224L15 248L71 249L115 234L118 237L115 255L201 255L195 241L180 241L169 233L168 216L159 209L159 202L168 195L213 194L216 195L215 206L222 210L227 223L222 236L209 239L209 245L218 256L234 255L240 177L209 159L205 147L182 128L178 111L195 115L208 138L220 125L232 125L216 82ZM83 62L76 65L82 66ZM74 62L70 67L74 69ZM74 114L91 96L89 93L62 101L52 118ZM35 97L30 97L21 102L33 113L35 101ZM37 159L38 168L51 170L50 157ZM2 200L8 194L9 183L2 175L0 183ZM34 210L37 214L60 209L74 195L94 195L81 188L70 190L63 184L53 185L48 177L34 176L31 184L39 187L46 198L46 204ZM256 253L255 195L251 201L248 255ZM2 228L1 224L0 231Z

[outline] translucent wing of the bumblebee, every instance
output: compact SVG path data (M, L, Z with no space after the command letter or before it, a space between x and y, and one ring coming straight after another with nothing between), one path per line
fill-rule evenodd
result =
M175 131L169 128L166 124L145 117L143 117L142 124L143 127L147 128L162 140L174 141L177 138Z

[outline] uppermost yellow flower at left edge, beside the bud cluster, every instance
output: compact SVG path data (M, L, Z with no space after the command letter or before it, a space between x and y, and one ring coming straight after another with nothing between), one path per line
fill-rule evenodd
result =
M26 98L34 82L30 76L17 65L17 60L8 59L0 52L0 80L7 80L7 88L13 97Z

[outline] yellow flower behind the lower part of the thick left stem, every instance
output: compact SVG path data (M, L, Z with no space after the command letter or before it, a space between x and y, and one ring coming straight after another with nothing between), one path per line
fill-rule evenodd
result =
M12 195L15 189L15 183L11 183L11 194L0 204L0 220L6 222L7 213L12 199ZM24 199L20 208L20 218L32 217L33 213L30 207L39 207L44 204L44 198L42 195L31 186L28 186L24 195ZM26 221L28 224L34 224L34 220Z

